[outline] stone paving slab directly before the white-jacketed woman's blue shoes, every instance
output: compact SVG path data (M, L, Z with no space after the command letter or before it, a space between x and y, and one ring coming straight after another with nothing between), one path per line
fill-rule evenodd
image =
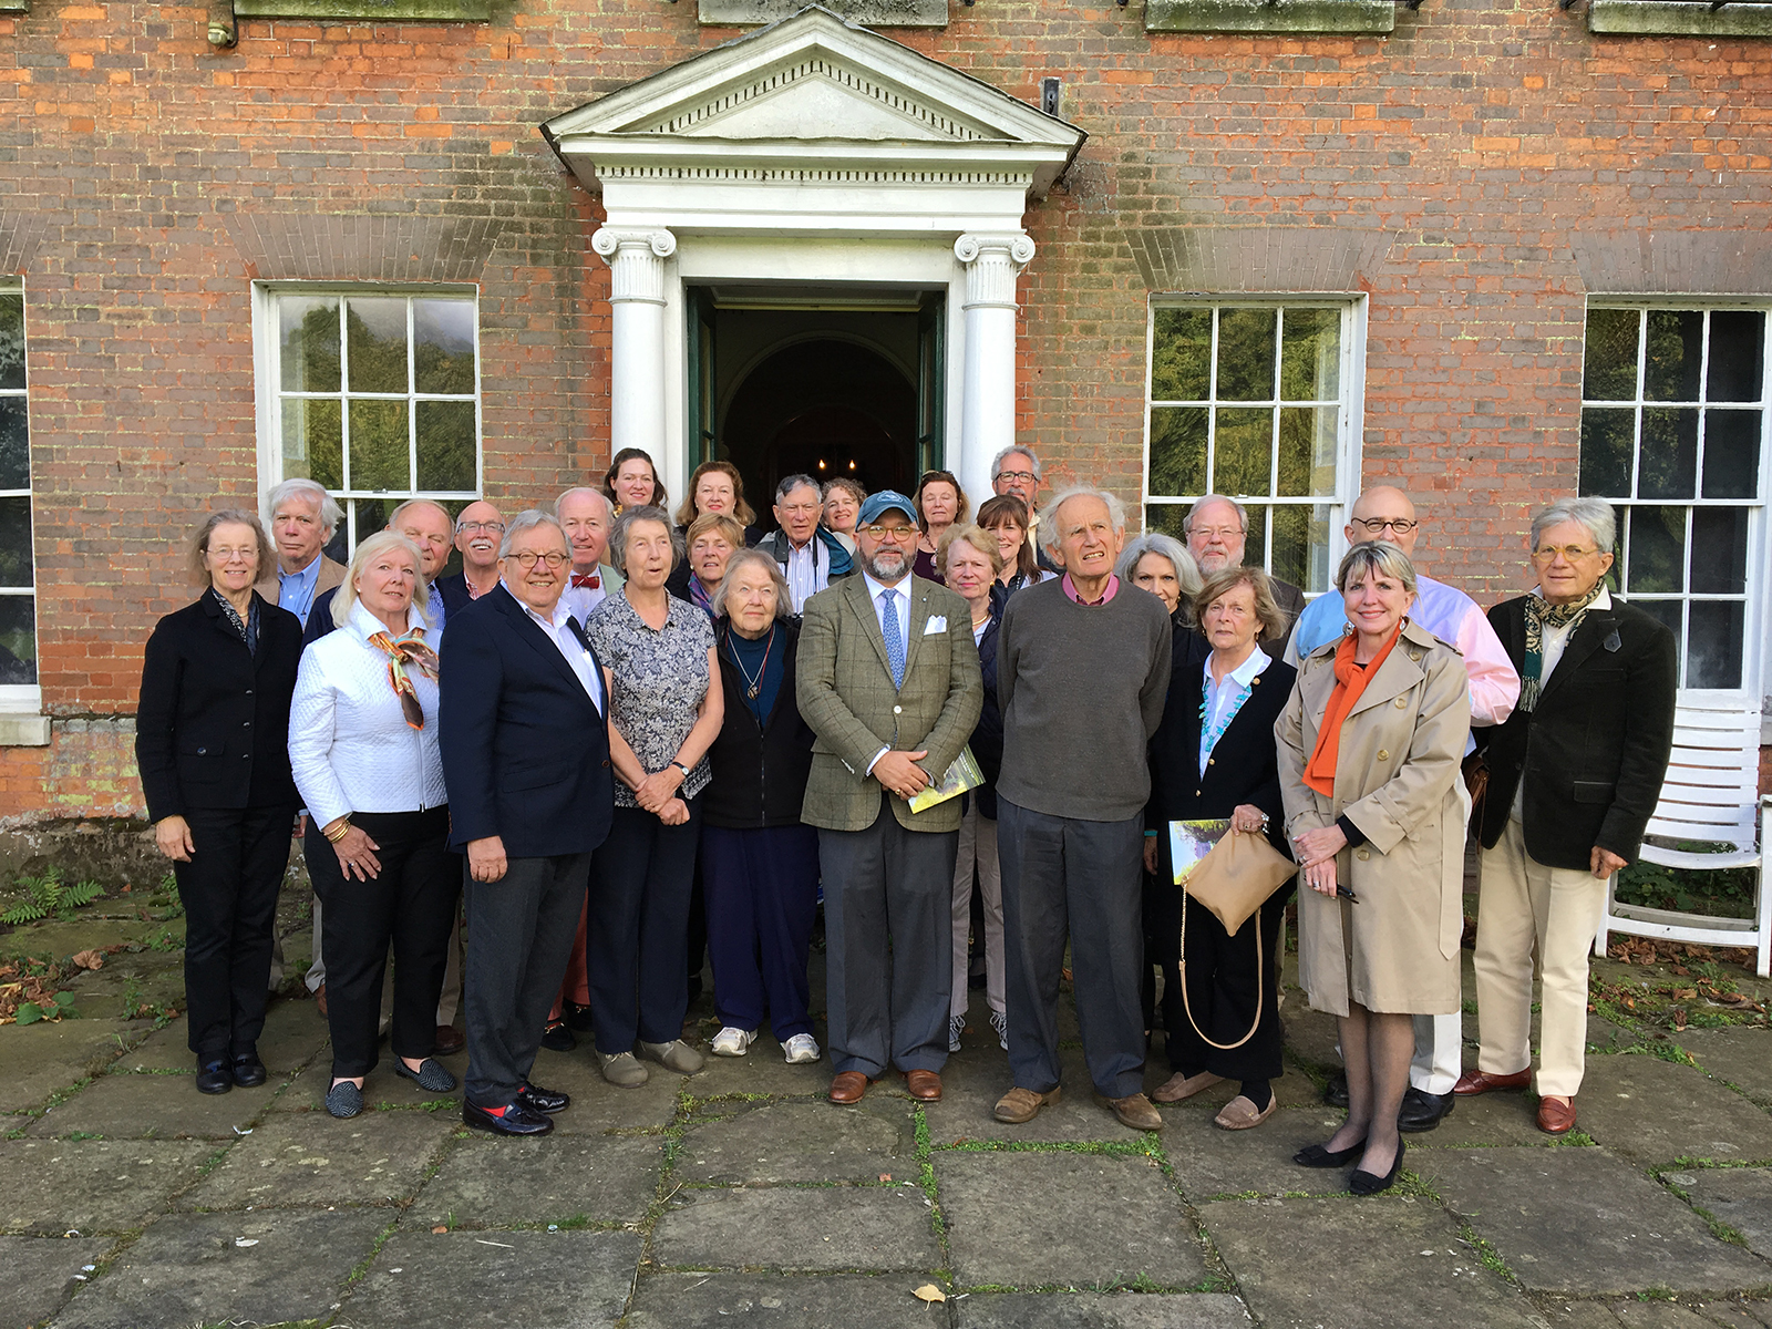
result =
M337 1122L321 1113L269 1113L179 1209L299 1209L386 1205L408 1200L443 1141L448 1113L363 1113Z

